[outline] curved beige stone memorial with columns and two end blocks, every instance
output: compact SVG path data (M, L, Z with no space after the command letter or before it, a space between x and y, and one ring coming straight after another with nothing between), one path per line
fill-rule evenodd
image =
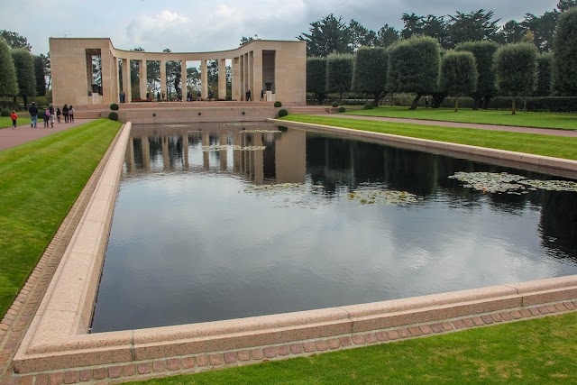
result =
M97 60L95 60L97 59ZM138 61L141 95L133 95L130 60ZM227 95L226 66L232 69L232 89L228 98L282 101L286 105L305 105L307 91L307 46L304 41L255 40L234 50L211 52L145 52L118 50L108 38L50 38L50 68L52 99L56 105L100 105L133 99L155 98L155 90L147 84L147 63L160 62L160 89L156 93L168 96L167 62L179 61L180 87L186 101L187 61L200 62L200 95L208 96L208 62L218 62L218 96ZM95 81L94 63L99 63ZM122 63L122 64L121 64ZM122 69L122 76L120 70ZM121 84L122 78L122 84ZM197 96L197 95L195 95Z

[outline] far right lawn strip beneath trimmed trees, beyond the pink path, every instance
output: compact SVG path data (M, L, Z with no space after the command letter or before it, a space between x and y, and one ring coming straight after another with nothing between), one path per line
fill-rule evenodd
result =
M517 112L517 115L511 115L510 111L473 111L472 109L462 109L455 113L453 108L417 108L417 110L411 111L408 107L396 106L381 106L372 110L358 110L344 114L577 130L577 114Z

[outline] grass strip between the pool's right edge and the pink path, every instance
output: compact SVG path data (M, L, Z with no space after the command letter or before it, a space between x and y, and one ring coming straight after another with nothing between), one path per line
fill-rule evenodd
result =
M577 116L575 119L577 120ZM536 155L577 160L577 137L540 135L535 133L509 133L504 131L423 124L398 124L317 115L288 115L282 118L282 120L325 124L375 133L392 133L434 141L454 142L472 146L489 147L492 149L527 152Z

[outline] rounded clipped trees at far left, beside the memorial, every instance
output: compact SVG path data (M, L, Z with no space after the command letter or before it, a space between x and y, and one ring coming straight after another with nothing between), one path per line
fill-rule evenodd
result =
M48 81L47 81L48 80ZM33 55L27 39L16 32L0 31L0 96L45 96L50 87L50 55Z

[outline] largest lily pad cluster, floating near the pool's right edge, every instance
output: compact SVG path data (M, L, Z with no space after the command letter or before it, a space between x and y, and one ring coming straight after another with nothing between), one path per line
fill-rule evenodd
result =
M449 177L457 179L465 184L464 188L473 188L482 192L527 194L537 188L547 191L576 191L577 183L568 180L539 180L527 179L521 175L507 172L456 172Z

